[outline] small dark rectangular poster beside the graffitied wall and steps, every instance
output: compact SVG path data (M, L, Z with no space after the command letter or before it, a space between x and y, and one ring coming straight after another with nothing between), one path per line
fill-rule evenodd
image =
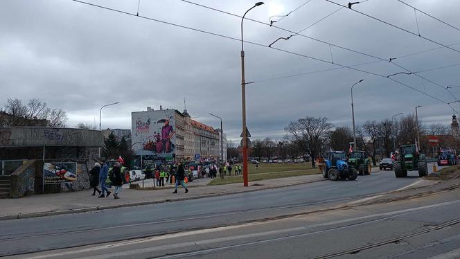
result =
M44 184L73 183L77 180L77 163L44 163L43 178Z

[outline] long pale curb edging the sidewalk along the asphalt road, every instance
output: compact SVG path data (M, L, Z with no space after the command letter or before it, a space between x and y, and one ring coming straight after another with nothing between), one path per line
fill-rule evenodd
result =
M327 181L327 179L319 179L319 180L315 180L315 181L307 181L307 182L297 183L297 184L285 184L283 186L271 186L271 187L267 187L267 188L258 188L258 189L254 189L254 190L241 190L241 191L238 191L238 192L231 192L231 193L210 193L210 194L207 194L207 195L201 195L201 196L195 196L195 197L181 197L181 198L163 199L163 200L158 200L158 201L130 202L130 203L125 203L125 204L114 204L114 205L105 205L105 206L87 207L87 208L74 208L74 209L68 209L68 210L62 210L62 211L45 211L45 212L39 212L39 213L24 213L24 214L17 214L17 215L5 215L5 216L0 216L0 221L2 221L2 220L17 220L17 219L30 218L30 217L46 217L46 216L53 216L53 215L85 213L85 212L89 212L89 211L102 211L102 210L107 210L107 209L111 209L111 208L125 208L125 207L132 207L132 206L161 204L161 203L166 203L166 202L180 202L180 201L186 201L186 200L191 200L191 199L219 197L219 196L233 195L233 194L238 194L238 193L251 193L251 192L256 192L258 190L270 190L270 189L284 188L284 187L289 187L289 186L297 186L297 185L301 185L301 184L312 184L312 183L316 183L316 182L319 182L319 181Z

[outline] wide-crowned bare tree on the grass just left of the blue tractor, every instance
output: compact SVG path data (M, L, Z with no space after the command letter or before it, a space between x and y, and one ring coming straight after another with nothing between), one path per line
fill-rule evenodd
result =
M308 143L308 149L312 157L312 167L315 168L315 158L321 152L323 139L331 127L333 127L333 124L329 123L326 117L307 116L289 123L284 130L295 139L304 139Z

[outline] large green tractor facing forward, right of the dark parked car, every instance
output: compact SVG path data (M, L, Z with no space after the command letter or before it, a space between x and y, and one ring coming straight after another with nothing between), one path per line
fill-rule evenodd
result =
M393 168L396 177L407 177L407 171L418 170L420 177L424 177L428 173L425 154L419 154L416 146L412 144L400 146Z

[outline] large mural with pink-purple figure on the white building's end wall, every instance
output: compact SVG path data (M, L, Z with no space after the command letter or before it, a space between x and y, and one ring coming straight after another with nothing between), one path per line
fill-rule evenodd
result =
M136 155L170 158L175 154L175 110L132 113L132 149Z

